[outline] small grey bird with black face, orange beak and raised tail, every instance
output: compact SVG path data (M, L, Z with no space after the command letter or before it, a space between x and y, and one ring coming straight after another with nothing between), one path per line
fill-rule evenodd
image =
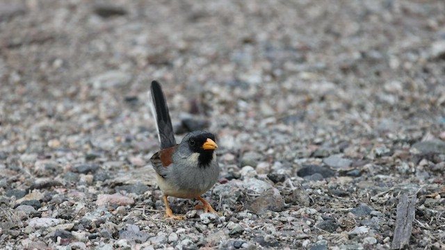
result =
M157 81L152 81L151 92L152 113L156 120L161 151L154 153L150 161L163 192L165 217L184 219L184 216L173 215L168 206L169 196L198 199L202 201L202 206L197 205L195 209L204 209L204 213L216 213L210 203L201 197L218 181L220 173L215 153L218 148L215 135L207 131L193 131L177 144L167 102Z

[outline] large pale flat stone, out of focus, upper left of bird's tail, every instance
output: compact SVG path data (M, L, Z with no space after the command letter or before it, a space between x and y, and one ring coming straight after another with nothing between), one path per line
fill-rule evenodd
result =
M127 85L131 81L131 74L119 71L109 71L90 78L90 84L96 89L118 88Z

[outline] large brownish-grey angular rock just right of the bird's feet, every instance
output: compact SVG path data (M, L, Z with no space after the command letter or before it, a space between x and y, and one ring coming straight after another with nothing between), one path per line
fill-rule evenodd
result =
M247 208L259 215L267 210L274 212L282 211L284 208L284 199L276 188L270 188L258 197L248 201Z

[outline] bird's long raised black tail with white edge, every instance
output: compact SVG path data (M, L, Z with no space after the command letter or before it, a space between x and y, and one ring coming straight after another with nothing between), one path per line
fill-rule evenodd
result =
M159 143L161 149L167 149L176 145L175 133L173 132L172 120L168 113L167 102L161 85L157 81L152 81L152 115L156 120Z

